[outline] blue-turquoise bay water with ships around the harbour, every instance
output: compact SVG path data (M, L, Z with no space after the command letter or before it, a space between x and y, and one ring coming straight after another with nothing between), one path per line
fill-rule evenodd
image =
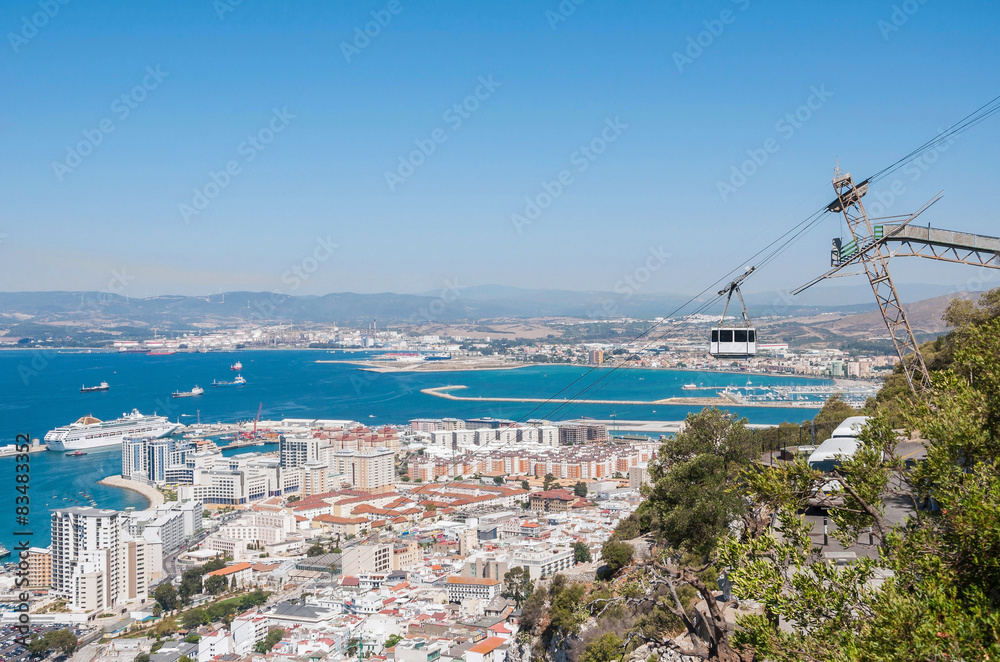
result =
M350 360L363 354L318 350L255 350L168 356L118 353L77 353L33 350L0 351L0 445L14 443L17 434L33 438L86 414L113 419L138 409L144 414L165 414L191 424L236 422L261 418L352 419L366 425L406 423L412 418L492 416L524 420L564 420L589 416L622 420L682 420L697 407L645 405L591 405L562 403L496 403L452 401L426 395L421 389L463 385L460 396L573 398L599 400L658 400L673 396L711 395L711 391L683 391L684 384L742 386L754 384L820 384L817 380L744 374L701 373L670 370L590 369L582 366L538 365L516 370L436 373L372 373L340 363L317 360ZM229 367L242 362L242 387L211 388L212 380L230 380ZM82 385L106 381L110 390L80 393ZM205 394L173 399L174 391L195 385ZM812 409L733 408L751 423L780 423L810 418ZM258 448L243 451L261 450ZM265 448L264 450L269 450ZM228 454L228 453L227 453ZM9 486L0 493L8 506L0 506L0 542L13 549L14 458L0 458L0 481ZM87 505L85 493L102 508L145 507L145 499L117 488L97 485L101 478L121 472L118 448L93 450L85 456L66 457L46 452L31 456L31 544L49 542L49 512L70 505ZM8 513L5 515L4 513ZM7 520L7 521L5 521Z

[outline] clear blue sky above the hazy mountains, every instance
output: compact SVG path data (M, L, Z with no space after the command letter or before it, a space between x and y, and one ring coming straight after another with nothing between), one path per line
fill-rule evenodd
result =
M610 291L667 253L641 291L693 292L829 202L838 158L860 179L1000 94L985 1L64 2L0 4L3 290ZM998 145L1000 118L898 173L887 213L944 189L924 222L1000 234Z

